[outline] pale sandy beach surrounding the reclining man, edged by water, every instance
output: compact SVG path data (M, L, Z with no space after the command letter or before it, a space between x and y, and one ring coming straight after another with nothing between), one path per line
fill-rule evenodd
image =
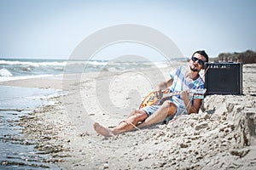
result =
M63 169L255 169L256 64L243 65L243 95L209 95L199 114L166 125L96 134L94 122L113 127L136 110L170 68L161 71L163 77L152 70L102 71L0 85L63 90L50 98L55 105L20 120L26 138Z

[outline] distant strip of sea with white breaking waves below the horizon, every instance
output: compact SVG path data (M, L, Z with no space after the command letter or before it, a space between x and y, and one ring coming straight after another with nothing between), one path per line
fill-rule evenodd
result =
M166 61L139 60L0 59L0 82L90 71L125 71L152 66L160 68L167 65Z

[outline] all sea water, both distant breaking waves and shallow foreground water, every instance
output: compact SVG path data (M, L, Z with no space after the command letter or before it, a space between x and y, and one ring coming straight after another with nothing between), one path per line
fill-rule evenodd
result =
M177 59L176 59L177 60ZM183 60L183 59L179 59ZM27 141L19 121L35 108L51 104L48 98L61 95L61 89L22 88L1 82L34 77L55 77L90 71L125 71L153 66L166 67L168 62L67 59L0 59L0 169L61 169L46 163L48 155Z

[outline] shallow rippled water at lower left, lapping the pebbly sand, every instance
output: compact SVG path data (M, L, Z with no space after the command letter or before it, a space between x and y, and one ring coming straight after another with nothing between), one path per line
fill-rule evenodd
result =
M52 105L50 96L58 95L55 89L0 86L0 168L38 167L59 169L50 163L50 156L35 150L35 141L27 139L20 126L22 119L41 105ZM47 100L47 101L46 101Z

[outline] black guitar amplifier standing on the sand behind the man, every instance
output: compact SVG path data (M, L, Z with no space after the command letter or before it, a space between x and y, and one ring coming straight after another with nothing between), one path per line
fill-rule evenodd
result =
M242 94L241 63L206 63L207 94Z

